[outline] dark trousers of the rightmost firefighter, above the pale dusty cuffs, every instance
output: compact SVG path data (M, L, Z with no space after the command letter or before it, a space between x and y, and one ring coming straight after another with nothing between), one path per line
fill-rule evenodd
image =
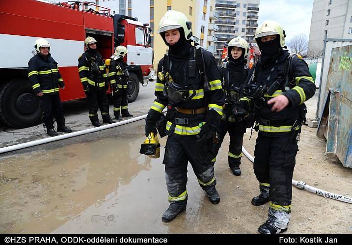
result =
M269 199L272 204L289 206L292 200L292 176L296 164L298 145L296 137L288 149L282 146L291 136L259 136L254 150L254 173L260 183L270 185Z

